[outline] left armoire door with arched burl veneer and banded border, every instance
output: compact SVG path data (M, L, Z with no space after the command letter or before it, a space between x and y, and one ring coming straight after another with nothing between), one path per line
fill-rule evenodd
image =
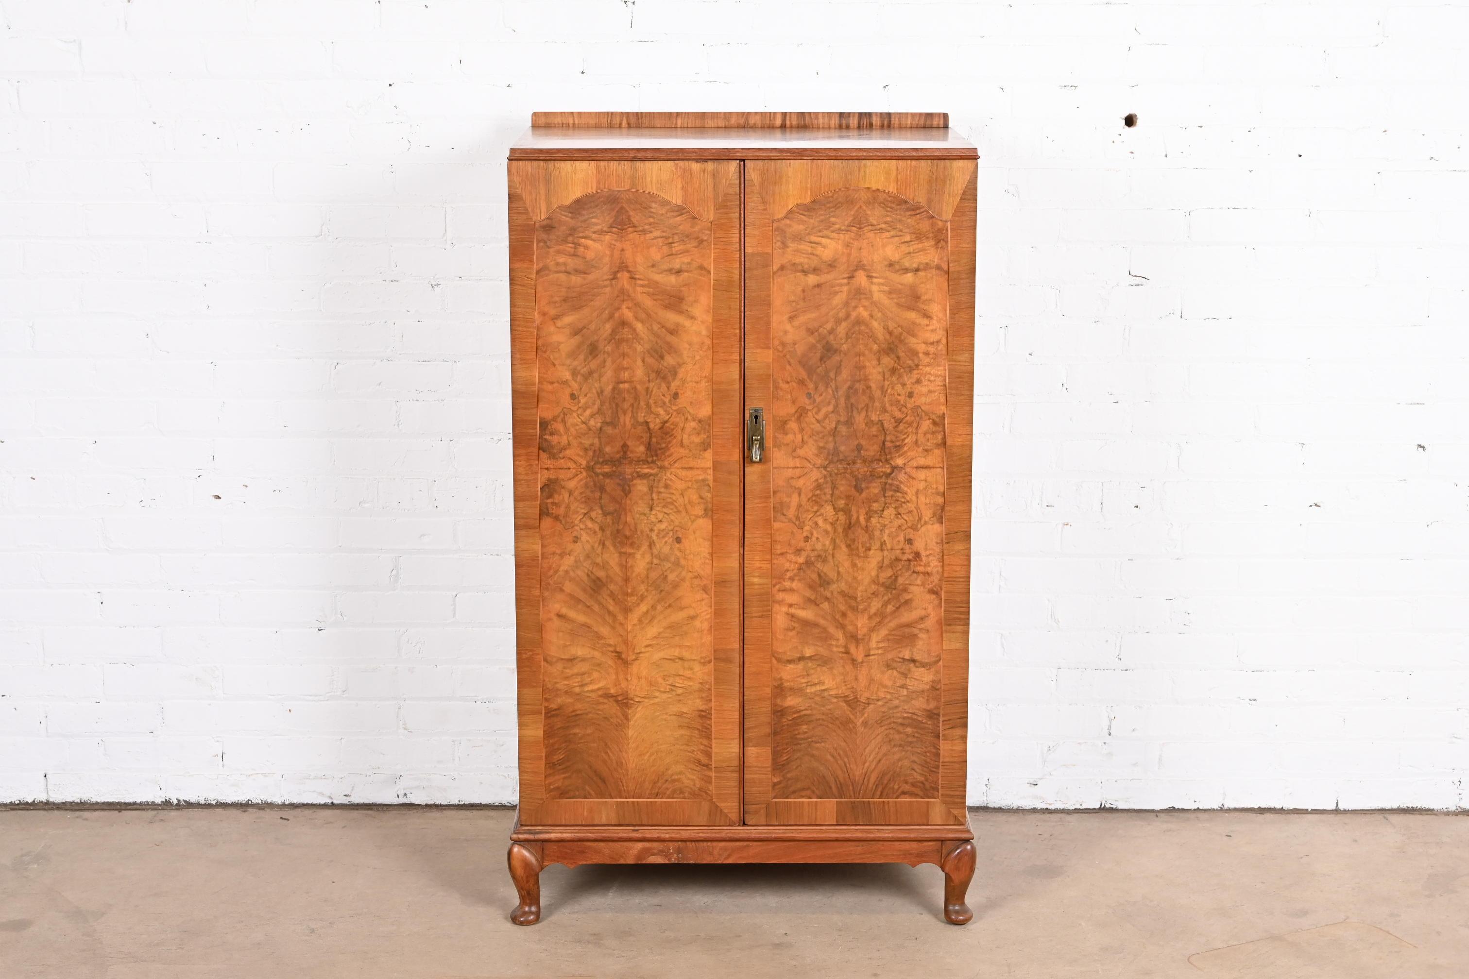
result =
M737 823L740 164L508 182L520 820Z

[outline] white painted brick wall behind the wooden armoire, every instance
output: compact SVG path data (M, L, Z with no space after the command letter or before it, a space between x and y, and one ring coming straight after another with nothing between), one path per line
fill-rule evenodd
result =
M513 800L508 142L942 109L971 801L1469 806L1469 1L0 15L0 798Z

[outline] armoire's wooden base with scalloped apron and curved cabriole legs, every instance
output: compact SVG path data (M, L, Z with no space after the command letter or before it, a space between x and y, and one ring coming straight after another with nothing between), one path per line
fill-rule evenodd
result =
M541 870L552 863L933 863L943 917L967 925L974 832L962 826L521 826L510 831L516 925L541 920Z

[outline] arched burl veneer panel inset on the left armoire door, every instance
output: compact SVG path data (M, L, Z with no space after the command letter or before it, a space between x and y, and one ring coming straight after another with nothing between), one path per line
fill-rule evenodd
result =
M608 189L536 226L551 798L704 798L712 228Z

